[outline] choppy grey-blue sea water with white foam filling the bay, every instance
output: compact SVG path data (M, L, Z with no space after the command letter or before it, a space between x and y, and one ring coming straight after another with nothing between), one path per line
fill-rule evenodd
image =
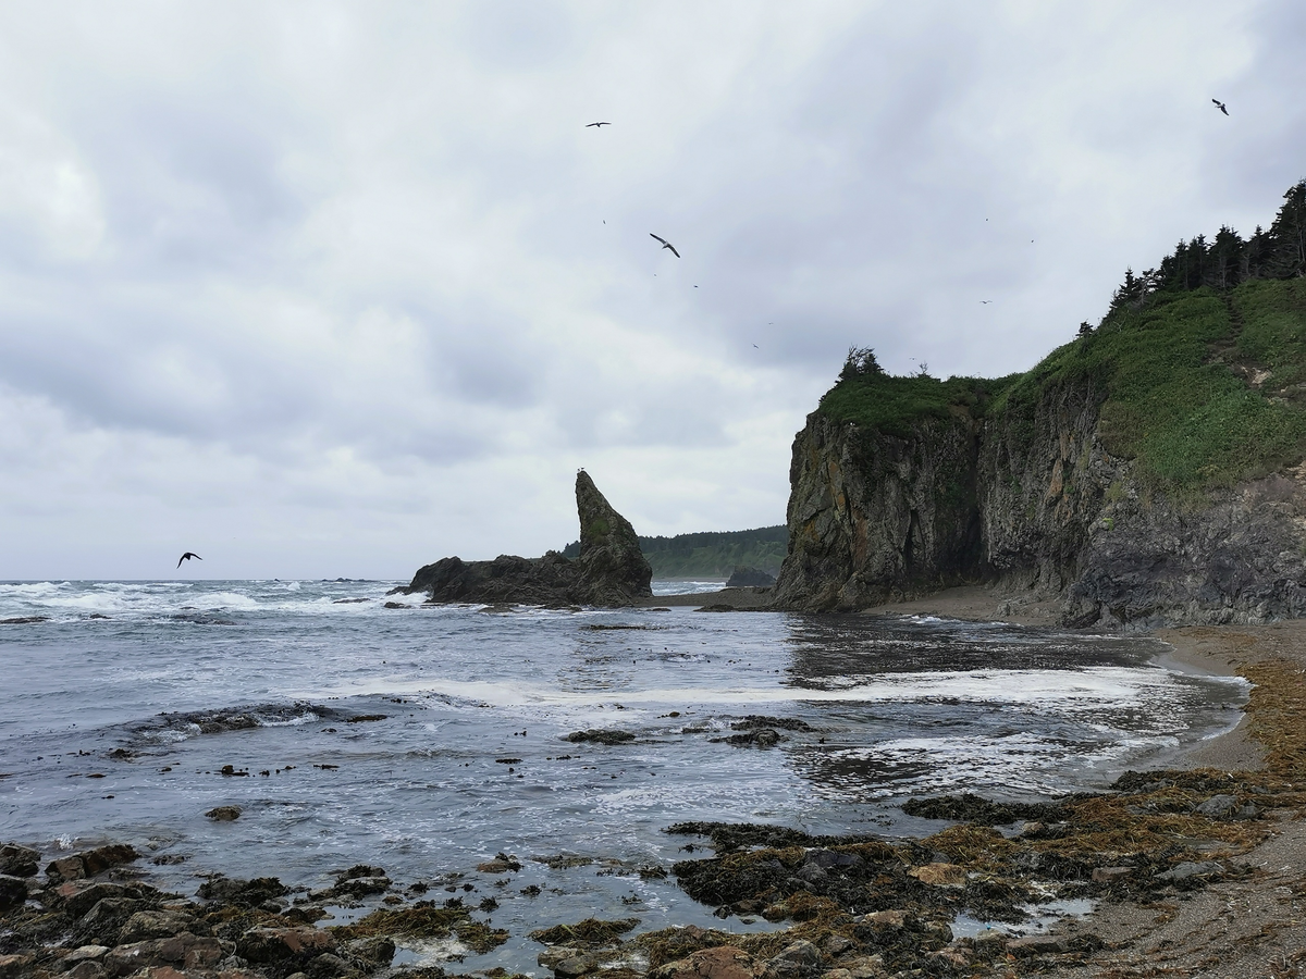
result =
M185 894L213 872L321 888L379 864L427 897L499 902L477 916L509 942L464 969L539 971L526 932L590 915L771 927L722 923L650 873L684 858L673 822L923 834L942 824L904 816L912 795L1100 787L1229 730L1246 700L1243 681L1162 668L1165 647L1136 637L419 607L393 585L0 583L0 619L39 619L0 624L0 841L48 856L131 842ZM657 585L674 590L688 589ZM750 715L811 730L726 741ZM589 728L635 739L565 740ZM243 813L204 816L218 805ZM521 872L477 872L500 851ZM558 855L592 863L533 859Z

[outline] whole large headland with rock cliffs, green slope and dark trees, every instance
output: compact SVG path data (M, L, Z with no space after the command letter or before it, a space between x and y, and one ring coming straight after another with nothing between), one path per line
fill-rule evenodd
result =
M1306 181L1285 197L1252 243L1130 273L1027 373L895 377L852 350L794 441L776 607L985 583L1070 627L1306 614Z

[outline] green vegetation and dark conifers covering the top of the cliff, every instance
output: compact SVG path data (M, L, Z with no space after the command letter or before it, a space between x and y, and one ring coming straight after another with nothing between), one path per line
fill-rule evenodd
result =
M1019 443L1072 389L1097 402L1104 448L1134 459L1144 487L1200 492L1306 458L1306 180L1268 231L1225 227L1128 270L1101 322L1027 372L896 377L854 346L818 411L867 437L1000 419Z

